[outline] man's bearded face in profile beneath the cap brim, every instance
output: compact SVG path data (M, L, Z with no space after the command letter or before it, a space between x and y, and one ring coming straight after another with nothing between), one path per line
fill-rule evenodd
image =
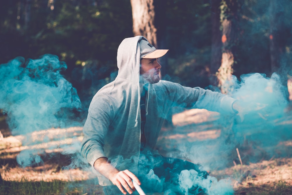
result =
M150 84L159 82L159 71L161 65L157 62L157 58L142 58L140 63L141 82L147 82Z

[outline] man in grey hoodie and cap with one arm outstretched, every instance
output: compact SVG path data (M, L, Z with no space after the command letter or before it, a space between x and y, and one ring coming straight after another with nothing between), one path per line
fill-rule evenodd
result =
M160 80L157 58L167 51L155 49L143 36L124 39L117 51L117 78L91 101L81 152L97 170L105 194L132 194L133 181L146 191L184 194L178 187L181 170L194 169L203 179L208 173L199 165L153 151L168 111L173 106L237 110L229 96ZM189 192L204 194L204 189L193 186Z

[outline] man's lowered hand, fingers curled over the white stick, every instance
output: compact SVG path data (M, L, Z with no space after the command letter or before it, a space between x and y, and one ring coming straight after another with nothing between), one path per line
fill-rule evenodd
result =
M139 185L141 184L140 180L132 172L124 170L115 175L112 179L112 183L116 185L123 194L127 194L126 191L128 191L129 194L132 194L133 190L135 190L132 179Z

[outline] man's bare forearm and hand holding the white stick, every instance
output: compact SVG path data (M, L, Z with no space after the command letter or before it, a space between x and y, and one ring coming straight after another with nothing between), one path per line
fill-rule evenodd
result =
M107 177L114 185L116 185L123 194L132 194L135 190L132 180L141 185L140 180L129 170L119 171L114 168L105 157L98 158L94 162L94 168L102 175ZM126 189L126 191L125 191Z

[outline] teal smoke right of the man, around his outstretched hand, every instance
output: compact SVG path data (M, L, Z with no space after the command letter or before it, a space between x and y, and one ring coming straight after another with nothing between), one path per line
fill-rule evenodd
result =
M229 84L232 90L228 95L237 99L241 106L239 113L221 114L218 119L214 117L215 120L211 114L206 124L212 124L213 129L219 129L217 138L206 140L178 138L169 146L178 150L167 155L189 159L211 172L233 166L234 163L239 164L236 149L239 149L240 160L244 164L269 160L272 157L291 156L291 153L279 147L284 141L291 139L291 125L287 122L289 120L287 89L281 84L280 76L276 73L271 77L251 73L241 75L240 80L233 77ZM201 117L204 118L203 115ZM175 131L180 133L183 128L193 128L196 131L196 128L201 128L199 125L177 127L173 134ZM205 125L203 130L208 130L207 127ZM207 179L200 179L196 171L184 170L179 179L180 186L186 194L187 189L194 184L205 187L208 194L233 193L231 178L217 181L215 177L208 176Z

